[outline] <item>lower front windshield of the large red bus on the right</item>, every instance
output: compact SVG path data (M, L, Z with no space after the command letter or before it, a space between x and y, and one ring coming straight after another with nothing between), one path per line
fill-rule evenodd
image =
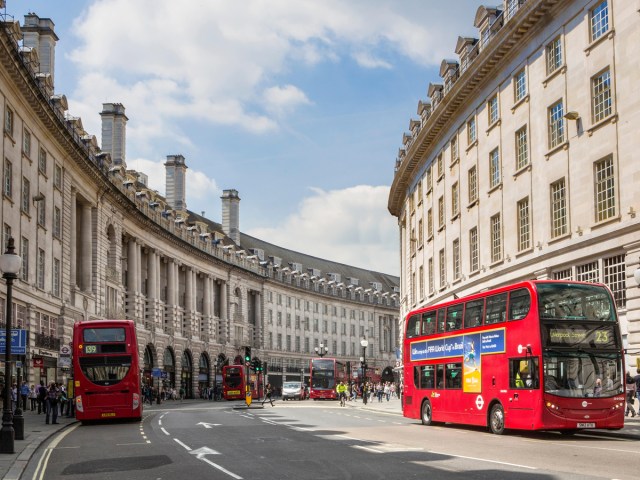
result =
M560 397L612 397L623 392L619 353L548 350L545 392Z

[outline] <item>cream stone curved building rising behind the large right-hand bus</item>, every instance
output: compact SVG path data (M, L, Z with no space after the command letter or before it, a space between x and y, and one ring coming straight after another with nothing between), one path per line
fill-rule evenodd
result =
M401 318L522 279L603 282L635 365L638 3L505 0L474 25L396 160Z

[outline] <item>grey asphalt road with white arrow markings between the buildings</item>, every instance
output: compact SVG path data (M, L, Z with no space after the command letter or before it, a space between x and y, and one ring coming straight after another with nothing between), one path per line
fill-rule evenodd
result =
M34 456L23 478L635 479L637 440L424 427L336 402L175 405L140 423L77 426Z

